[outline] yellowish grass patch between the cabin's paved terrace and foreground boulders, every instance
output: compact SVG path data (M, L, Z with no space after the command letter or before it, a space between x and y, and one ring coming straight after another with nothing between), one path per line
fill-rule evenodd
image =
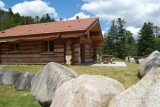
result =
M75 70L79 75L103 75L111 77L121 82L125 88L137 83L137 70L139 65L133 63L126 63L127 67L98 67L98 66L70 66L69 68Z

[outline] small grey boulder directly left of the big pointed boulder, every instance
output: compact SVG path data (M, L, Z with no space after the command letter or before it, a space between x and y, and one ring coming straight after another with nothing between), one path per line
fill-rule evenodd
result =
M31 81L34 76L35 73L32 72L26 72L25 74L22 74L16 81L15 88L17 90L31 89Z

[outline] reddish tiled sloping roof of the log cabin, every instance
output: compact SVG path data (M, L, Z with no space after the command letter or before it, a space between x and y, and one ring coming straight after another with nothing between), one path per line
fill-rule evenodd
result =
M0 37L14 37L35 34L49 34L87 30L98 18L86 18L30 25L20 25L0 31Z

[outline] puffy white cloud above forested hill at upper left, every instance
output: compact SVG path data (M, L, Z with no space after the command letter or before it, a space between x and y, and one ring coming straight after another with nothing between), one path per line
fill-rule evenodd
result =
M50 7L49 3L42 0L34 0L34 1L24 1L22 3L18 3L12 7L12 11L14 13L19 13L23 16L39 16L42 17L46 13L48 13L51 17L57 17L54 7Z

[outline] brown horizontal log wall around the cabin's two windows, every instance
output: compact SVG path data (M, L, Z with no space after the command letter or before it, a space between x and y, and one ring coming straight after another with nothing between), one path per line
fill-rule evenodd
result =
M64 44L54 40L54 53L44 53L44 41L19 42L19 51L10 51L11 43L0 44L1 64L46 64L48 62L65 63Z

